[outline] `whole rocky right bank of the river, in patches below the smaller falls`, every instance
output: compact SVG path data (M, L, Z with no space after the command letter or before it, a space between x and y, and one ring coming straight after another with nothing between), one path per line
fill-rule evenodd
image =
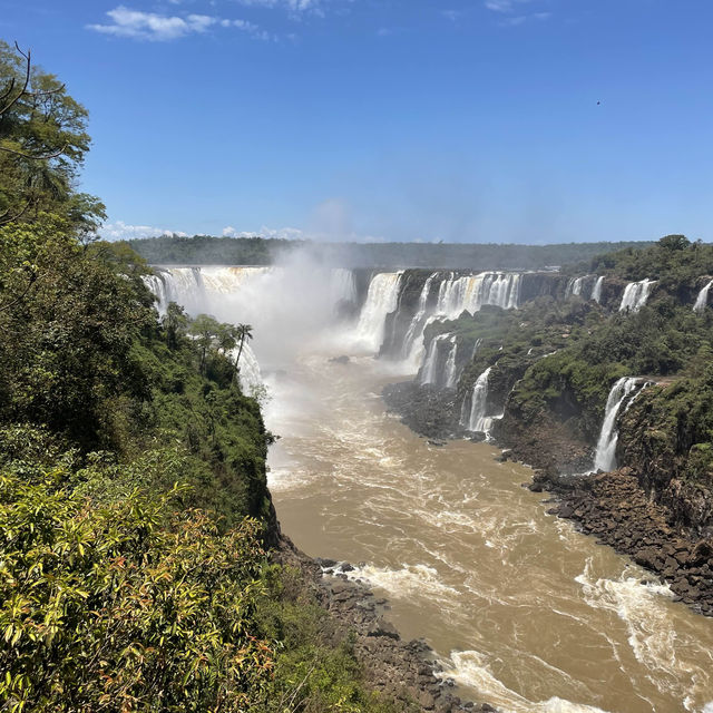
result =
M387 385L383 398L389 410L420 436L445 439L462 431L452 417L452 391L401 382ZM531 482L524 485L556 497L550 515L574 520L580 531L632 557L668 584L676 600L696 614L713 616L711 537L675 525L675 514L665 505L655 504L629 468L589 476L559 475L556 463L574 463L584 471L592 458L586 445L568 434L561 424L543 422L529 429L498 429L498 433L504 432L507 441L495 441L504 448L502 457L535 468Z

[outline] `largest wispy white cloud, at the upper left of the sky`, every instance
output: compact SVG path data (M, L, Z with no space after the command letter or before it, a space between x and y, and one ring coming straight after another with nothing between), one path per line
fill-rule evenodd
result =
M228 20L209 14L166 16L118 6L114 10L109 10L107 16L111 20L110 23L88 25L87 29L102 35L154 42L166 42L188 35L203 33L215 27L235 28L261 40L276 39L253 22Z

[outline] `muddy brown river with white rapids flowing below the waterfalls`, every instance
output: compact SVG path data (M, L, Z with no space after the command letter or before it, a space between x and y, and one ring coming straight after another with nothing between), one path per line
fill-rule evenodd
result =
M284 531L389 598L465 696L501 711L713 713L713 621L521 487L487 443L428 443L384 412L372 359L267 379Z

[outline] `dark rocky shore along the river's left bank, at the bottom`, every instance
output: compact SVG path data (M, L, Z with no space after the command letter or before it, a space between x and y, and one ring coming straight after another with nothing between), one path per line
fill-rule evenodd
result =
M346 578L349 565L313 560L284 537L274 558L303 573L305 588L330 614L334 643L351 634L367 685L393 700L395 710L497 713L488 704L462 703L455 696L449 684L436 675L439 666L430 646L422 639L404 642L384 618L384 599L377 599L364 584ZM331 574L323 574L323 568Z

